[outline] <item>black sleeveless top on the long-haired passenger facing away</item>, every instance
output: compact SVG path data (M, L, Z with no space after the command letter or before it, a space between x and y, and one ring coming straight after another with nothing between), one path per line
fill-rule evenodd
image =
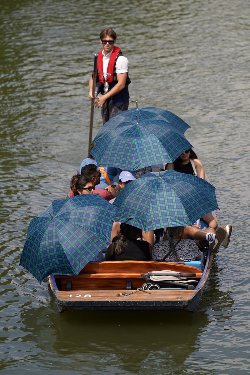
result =
M115 244L114 242L114 252L112 254L111 260L150 260L151 255L149 252L149 243L147 241L141 240L126 240L126 245L123 252L119 255L115 254Z

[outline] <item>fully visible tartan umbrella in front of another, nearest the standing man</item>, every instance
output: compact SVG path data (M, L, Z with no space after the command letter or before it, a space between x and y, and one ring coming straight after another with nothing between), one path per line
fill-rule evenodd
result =
M136 171L173 162L192 147L183 133L165 120L123 121L111 128L108 122L93 140L91 155L98 165Z

